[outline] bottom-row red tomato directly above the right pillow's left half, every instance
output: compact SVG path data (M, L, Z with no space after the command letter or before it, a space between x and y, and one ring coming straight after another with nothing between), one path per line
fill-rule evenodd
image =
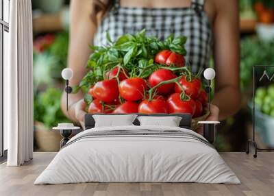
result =
M151 101L145 99L140 103L138 112L142 114L169 113L169 110L166 101L162 99Z

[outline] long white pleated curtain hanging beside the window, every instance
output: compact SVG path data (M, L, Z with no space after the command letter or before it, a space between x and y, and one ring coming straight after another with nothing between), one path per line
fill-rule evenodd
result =
M10 1L9 64L4 68L4 128L8 130L8 166L33 154L32 3Z

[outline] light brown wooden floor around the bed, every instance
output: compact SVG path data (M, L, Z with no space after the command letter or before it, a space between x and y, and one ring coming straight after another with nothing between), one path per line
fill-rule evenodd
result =
M274 153L221 153L242 184L197 183L85 183L36 185L34 180L55 153L34 153L34 160L23 167L0 165L0 195L274 195Z

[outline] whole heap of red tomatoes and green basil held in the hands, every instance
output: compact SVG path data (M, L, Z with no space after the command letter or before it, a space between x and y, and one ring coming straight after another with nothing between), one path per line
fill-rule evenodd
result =
M208 96L184 56L186 37L166 40L125 34L103 47L92 46L82 90L89 113L177 113L200 117Z

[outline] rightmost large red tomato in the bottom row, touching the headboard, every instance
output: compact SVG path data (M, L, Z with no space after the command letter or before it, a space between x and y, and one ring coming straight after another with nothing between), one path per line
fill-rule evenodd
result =
M195 101L193 99L183 101L179 93L172 94L166 102L169 106L169 113L189 113L191 115L195 113Z

